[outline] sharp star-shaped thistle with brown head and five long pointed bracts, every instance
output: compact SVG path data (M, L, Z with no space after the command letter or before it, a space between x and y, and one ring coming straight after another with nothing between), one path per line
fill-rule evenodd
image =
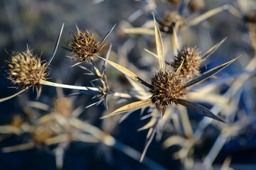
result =
M139 108L144 108L146 106L149 106L152 103L160 103L160 105L163 108L162 115L164 115L167 106L171 106L173 104L180 104L182 106L185 106L188 109L196 111L197 113L205 115L209 118L213 118L215 120L224 122L224 120L222 120L217 115L210 112L204 106L201 106L198 103L193 103L191 101L186 101L183 98L188 92L187 89L190 86L193 86L194 84L198 84L199 82L205 79L208 79L209 77L212 77L217 72L220 72L221 69L224 69L229 64L234 62L236 59L231 60L230 62L221 64L220 66L215 67L213 69L210 69L208 72L204 72L203 74L200 74L198 77L196 77L195 79L192 79L191 81L183 81L180 75L181 67L183 66L183 63L181 63L180 67L175 71L171 69L166 69L166 64L164 62L165 60L164 60L163 41L161 39L159 27L157 26L155 19L154 19L154 25L155 25L155 36L156 36L156 50L157 50L157 55L159 59L159 72L157 72L156 74L153 75L153 77L151 77L150 84L148 84L143 79L139 78L136 74L129 71L128 69L120 66L119 64L116 64L114 62L111 62L110 60L106 60L102 58L102 60L107 61L113 67L115 67L116 69L119 69L120 72L123 72L131 79L134 79L134 81L137 81L140 84L143 84L144 86L148 87L149 93L151 94L151 96L145 100L136 101L134 103L129 103L126 106L122 106L121 108L118 108L117 110L113 111L108 115L103 116L102 118L107 118L112 115L117 115L119 113L135 111Z

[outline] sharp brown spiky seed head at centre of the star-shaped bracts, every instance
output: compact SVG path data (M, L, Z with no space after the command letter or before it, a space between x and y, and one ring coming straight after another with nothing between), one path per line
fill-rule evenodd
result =
M160 70L151 78L151 97L154 103L159 102L161 106L169 106L177 103L178 98L184 94L183 79L176 72Z

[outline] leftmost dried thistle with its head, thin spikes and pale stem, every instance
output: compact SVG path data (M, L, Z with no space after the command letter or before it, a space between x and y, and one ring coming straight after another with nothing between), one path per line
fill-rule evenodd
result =
M55 56L56 50L58 48L58 44L60 42L60 36L63 32L63 26L60 30L60 35L58 36L58 39L55 43L55 47L53 50L53 53L46 63L42 63L40 59L32 55L31 48L28 45L27 42L27 50L26 52L16 52L15 55L11 57L11 61L9 63L9 70L7 79L10 79L14 84L18 84L18 86L22 89L21 91L18 91L18 93L6 97L6 98L0 98L0 102L7 101L10 98L13 98L14 96L17 96L18 94L21 94L23 91L26 91L27 89L31 87L36 87L36 90L38 90L38 96L41 94L41 85L46 86L56 86L66 89L79 89L79 90L89 90L85 86L71 86L71 85L65 85L65 84L57 84L50 81L46 81L46 76L49 73L45 73L46 69L49 67L50 62L53 60L53 57ZM90 88L92 91L99 91L97 88Z

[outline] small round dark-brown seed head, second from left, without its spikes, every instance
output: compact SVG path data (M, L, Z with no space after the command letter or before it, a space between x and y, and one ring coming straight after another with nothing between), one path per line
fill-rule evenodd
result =
M92 61L92 56L101 49L100 42L89 31L78 30L69 44L71 57L80 62Z

